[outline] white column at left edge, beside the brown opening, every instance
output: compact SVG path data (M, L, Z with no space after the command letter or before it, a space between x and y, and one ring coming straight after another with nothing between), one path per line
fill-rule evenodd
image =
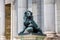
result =
M0 40L5 40L5 1L0 0Z

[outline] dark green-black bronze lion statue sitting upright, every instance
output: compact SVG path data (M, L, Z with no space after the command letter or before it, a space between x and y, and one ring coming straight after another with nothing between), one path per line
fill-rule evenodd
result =
M24 31L27 29L29 33L39 33L40 35L43 35L42 30L38 28L38 25L33 20L33 13L31 11L26 11L24 13L24 26L25 28L22 30L22 32L19 33L19 35L24 34Z

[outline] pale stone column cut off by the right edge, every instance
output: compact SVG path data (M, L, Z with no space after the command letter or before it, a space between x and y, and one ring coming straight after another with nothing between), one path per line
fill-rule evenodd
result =
M60 36L60 0L56 0L56 32Z

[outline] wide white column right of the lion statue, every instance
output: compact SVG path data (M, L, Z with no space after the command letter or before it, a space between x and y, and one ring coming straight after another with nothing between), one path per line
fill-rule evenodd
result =
M44 0L44 27L48 37L55 36L55 0Z

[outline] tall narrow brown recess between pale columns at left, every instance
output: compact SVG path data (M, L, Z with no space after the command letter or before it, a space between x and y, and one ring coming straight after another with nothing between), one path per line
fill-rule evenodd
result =
M5 10L5 36L7 40L11 35L11 4L5 5Z

